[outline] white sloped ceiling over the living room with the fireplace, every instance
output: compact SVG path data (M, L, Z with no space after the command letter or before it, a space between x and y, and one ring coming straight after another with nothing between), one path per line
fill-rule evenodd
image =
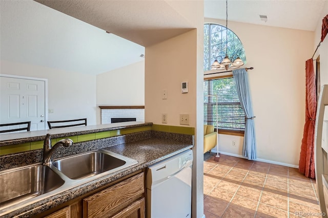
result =
M143 46L31 0L1 0L0 31L2 60L87 74L144 60Z

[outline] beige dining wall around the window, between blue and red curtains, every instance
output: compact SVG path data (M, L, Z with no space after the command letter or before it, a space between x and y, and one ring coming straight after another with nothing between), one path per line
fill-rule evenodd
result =
M206 19L225 25L224 20ZM253 101L258 159L298 166L305 119L305 61L314 32L229 21L243 43ZM242 137L219 135L219 150L242 155ZM237 147L232 141L240 142Z

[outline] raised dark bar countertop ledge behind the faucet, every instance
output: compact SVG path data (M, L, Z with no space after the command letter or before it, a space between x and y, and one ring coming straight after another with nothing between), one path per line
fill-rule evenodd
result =
M51 134L52 138L65 138L77 135L106 132L110 130L134 128L140 126L152 125L151 122L123 122L123 123L108 123L90 126L76 126L70 128L54 128L46 130L29 131L22 133L6 133L0 135L0 146L19 144L34 141L43 141L47 134Z

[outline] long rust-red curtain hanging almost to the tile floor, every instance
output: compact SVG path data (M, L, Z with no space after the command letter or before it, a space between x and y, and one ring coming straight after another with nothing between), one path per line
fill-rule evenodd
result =
M315 179L314 128L317 111L316 79L312 58L305 62L305 124L298 171L305 177Z

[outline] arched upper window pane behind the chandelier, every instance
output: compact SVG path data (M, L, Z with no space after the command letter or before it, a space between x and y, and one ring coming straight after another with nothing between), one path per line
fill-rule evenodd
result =
M245 51L238 36L228 28L218 24L204 24L204 71L211 70L216 57L238 55L246 63Z

